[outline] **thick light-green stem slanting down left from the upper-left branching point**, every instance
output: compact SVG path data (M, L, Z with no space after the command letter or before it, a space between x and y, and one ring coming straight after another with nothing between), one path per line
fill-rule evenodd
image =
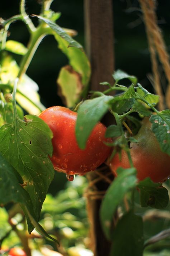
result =
M19 79L27 71L28 66L34 56L34 53L36 52L38 45L41 43L45 35L46 34L44 33L44 28L42 26L38 27L36 31L32 32L30 41L28 44L28 51L24 55L22 62L20 64L20 70L17 76Z

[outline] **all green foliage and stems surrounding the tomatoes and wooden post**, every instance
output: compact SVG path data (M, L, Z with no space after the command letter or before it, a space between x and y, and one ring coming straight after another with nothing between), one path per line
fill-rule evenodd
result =
M70 66L61 69L57 82L65 105L75 107L78 113L75 133L80 149L85 149L92 129L110 112L113 115L112 125L107 128L105 136L114 139L107 143L113 147L108 163L122 149L127 151L129 157L131 168L119 169L118 177L110 184L100 209L104 234L112 242L110 256L123 253L131 256L143 253L153 255L152 251L161 250L163 243L165 253L169 252L169 182L154 183L150 178L139 182L128 144L136 142L132 134L137 133L142 118L150 116L151 129L160 148L170 156L170 110L158 111L156 105L159 96L148 92L137 82L135 76L122 70L114 72L113 85L107 81L101 83L108 86L107 90L91 92L86 99L90 79L89 60L82 46L72 38L75 31L56 24L60 14L49 9L51 2L44 0L40 15L29 18L25 13L24 0L21 0L20 14L1 20L0 245L4 246L3 253L5 255L5 246L8 246L8 252L14 245L21 246L21 242L25 246L28 239L32 241L32 252L42 253L42 246L49 239L48 243L56 242L53 243L53 249L60 250L63 254L73 255L74 250L84 246L87 255L92 255L87 250L88 221L85 200L82 198L83 191L88 186L86 178L77 177L55 197L47 194L54 177L49 158L53 152L53 134L37 116L45 107L40 102L38 85L26 75L34 53L46 35L54 36L58 47L69 59ZM39 20L37 27L33 23L35 17ZM9 26L14 21L22 21L27 26L30 33L28 47L17 41L7 40ZM22 56L20 66L10 52ZM123 79L127 79L129 84L119 84ZM112 91L116 94L108 95ZM83 102L80 101L82 97L85 99ZM28 115L24 115L25 112ZM151 211L152 214L149 215ZM116 212L117 219L113 221ZM159 219L159 225L154 225L153 216ZM148 222L152 224L152 228L148 228ZM166 230L162 231L162 227ZM32 232L34 228L39 234ZM163 235L161 231L164 232ZM78 242L75 242L76 239ZM57 247L58 241L62 249ZM74 249L71 251L72 247ZM27 250L30 253L29 248Z

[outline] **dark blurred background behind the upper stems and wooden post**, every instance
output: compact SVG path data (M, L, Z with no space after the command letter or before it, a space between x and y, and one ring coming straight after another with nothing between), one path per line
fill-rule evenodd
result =
M30 14L39 14L41 1L27 0L26 11ZM75 37L85 48L84 35L84 1L83 0L54 0L51 9L61 12L58 25L75 29L78 34ZM170 48L170 2L168 0L157 1L157 16L159 26L165 39L167 50ZM19 0L1 1L0 17L8 19L19 13ZM102 19L102 17L101 17ZM32 18L36 24L37 18ZM145 26L142 20L142 12L137 0L113 1L114 23L114 52L115 69L122 69L128 74L137 76L139 82L149 91L153 91L148 74L151 73L150 53L148 50ZM22 22L15 22L10 26L8 39L17 40L27 45L29 33ZM105 40L109 40L106 38ZM20 63L20 56L14 54L14 58ZM37 52L30 63L27 74L39 85L41 101L46 106L63 105L57 96L56 79L62 66L67 65L67 58L58 49L53 36L46 36L39 45ZM166 87L166 78L159 67L161 82ZM110 74L111 76L112 74ZM59 178L60 177L60 178ZM63 178L62 178L63 177ZM65 175L56 173L49 191L56 194L63 189L66 182Z

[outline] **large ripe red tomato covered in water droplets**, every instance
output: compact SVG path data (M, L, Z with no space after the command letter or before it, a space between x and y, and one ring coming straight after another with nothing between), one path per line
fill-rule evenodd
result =
M83 175L94 171L110 153L110 147L104 141L106 127L96 124L87 141L85 150L76 142L75 124L77 113L66 107L49 107L39 117L44 120L53 132L53 155L51 161L55 170L67 175Z

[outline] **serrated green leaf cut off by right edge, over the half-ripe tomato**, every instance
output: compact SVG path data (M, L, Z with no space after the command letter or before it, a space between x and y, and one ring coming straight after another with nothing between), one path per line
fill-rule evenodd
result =
M152 115L149 120L161 150L170 155L170 110L163 110L159 115Z

